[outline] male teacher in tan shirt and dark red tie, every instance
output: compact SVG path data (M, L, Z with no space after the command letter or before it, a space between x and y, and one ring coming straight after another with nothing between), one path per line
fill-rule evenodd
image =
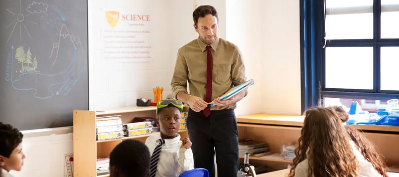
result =
M212 6L193 12L198 38L178 50L171 86L175 99L189 105L187 129L194 155L194 167L206 168L209 176L237 176L238 129L234 108L247 89L221 101L234 85L245 82L241 53L234 44L217 37L219 19ZM189 90L187 91L187 81ZM212 102L210 107L207 103Z

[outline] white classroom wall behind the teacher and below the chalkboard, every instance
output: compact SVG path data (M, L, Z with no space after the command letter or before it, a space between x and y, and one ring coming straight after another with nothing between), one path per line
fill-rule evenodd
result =
M195 5L210 4L219 13L219 36L240 48L247 77L255 80L248 96L238 103L236 114L301 114L298 1L159 1L162 6L154 8L169 19L157 24L161 33L159 42L165 49L156 55L156 61L146 63L99 60L101 49L91 47L99 35L93 29L96 18L91 17L100 7L98 2L88 1L91 110L133 106L137 98L152 98L152 87L157 85L166 89L164 96L170 93L177 49L197 37L192 11ZM71 133L27 136L23 145L27 158L22 171L12 171L16 177L64 175L63 155L72 152Z

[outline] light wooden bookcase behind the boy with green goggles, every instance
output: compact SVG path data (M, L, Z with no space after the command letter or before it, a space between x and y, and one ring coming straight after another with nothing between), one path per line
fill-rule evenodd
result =
M96 173L96 160L99 157L108 157L112 149L125 139L137 139L142 142L146 138L159 134L123 137L120 139L96 140L96 118L103 116L120 115L122 123L130 123L135 117L155 117L156 107L125 107L107 111L73 110L73 154L74 176L94 177ZM187 130L180 130L182 137L188 137ZM108 176L107 175L101 175Z

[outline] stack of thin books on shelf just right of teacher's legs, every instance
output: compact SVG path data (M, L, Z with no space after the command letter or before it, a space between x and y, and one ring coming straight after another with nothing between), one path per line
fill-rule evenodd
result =
M239 155L244 156L246 152L248 152L249 155L259 157L269 155L271 153L266 143L256 142L251 139L244 139L238 142Z

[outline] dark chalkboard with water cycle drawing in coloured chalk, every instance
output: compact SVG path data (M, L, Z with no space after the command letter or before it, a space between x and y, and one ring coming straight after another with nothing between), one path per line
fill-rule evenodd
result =
M72 125L88 109L87 2L0 1L0 121Z

